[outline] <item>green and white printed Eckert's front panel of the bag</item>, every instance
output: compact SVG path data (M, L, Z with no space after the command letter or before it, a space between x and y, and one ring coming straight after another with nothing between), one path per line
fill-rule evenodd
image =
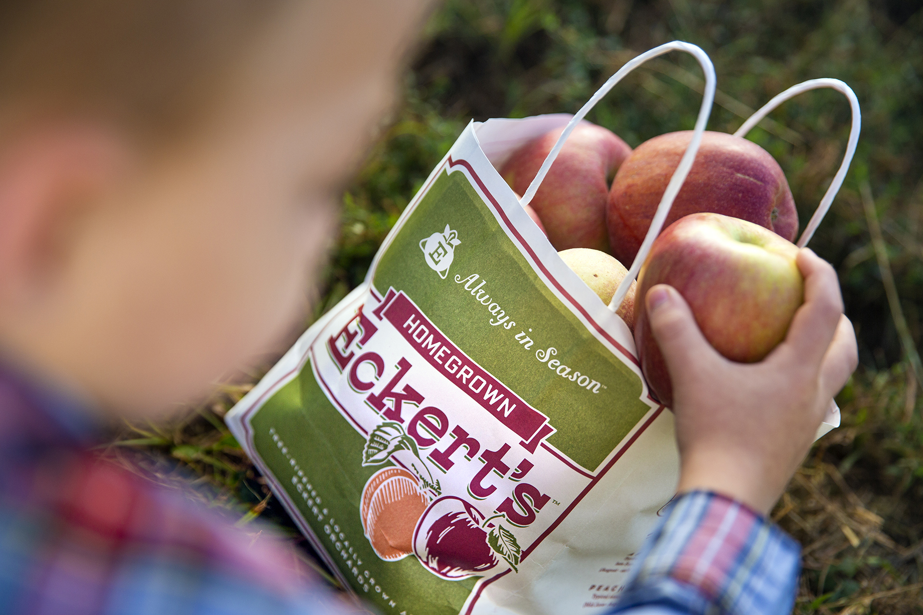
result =
M660 408L470 164L450 158L411 207L366 290L312 327L242 422L360 596L386 613L470 612Z

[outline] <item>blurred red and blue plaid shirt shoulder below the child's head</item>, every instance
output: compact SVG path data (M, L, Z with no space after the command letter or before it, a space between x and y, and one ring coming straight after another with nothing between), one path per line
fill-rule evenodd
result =
M0 371L0 612L351 612L271 538L88 452L72 402ZM263 533L265 534L265 532ZM262 536L262 535L261 535Z

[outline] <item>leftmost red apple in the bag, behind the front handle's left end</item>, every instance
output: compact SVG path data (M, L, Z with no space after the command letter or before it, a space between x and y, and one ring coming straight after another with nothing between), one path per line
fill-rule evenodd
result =
M563 131L556 128L513 152L500 174L514 191L525 193ZM530 203L556 250L608 251L605 205L609 182L630 152L625 141L596 124L581 122L570 133Z

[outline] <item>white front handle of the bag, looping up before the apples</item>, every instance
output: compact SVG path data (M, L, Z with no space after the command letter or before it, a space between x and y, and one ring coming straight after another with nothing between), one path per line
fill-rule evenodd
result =
M686 153L683 154L682 160L679 161L677 170L673 171L673 177L670 178L670 183L666 185L664 196L660 199L660 205L657 206L657 211L653 216L653 220L651 221L651 228L648 229L647 235L644 236L644 242L641 243L641 249L638 251L638 255L635 257L634 262L631 264L625 279L623 279L621 284L618 285L616 294L612 297L612 301L609 302L609 309L613 312L618 309L618 306L621 305L622 300L625 299L625 295L628 294L632 280L638 276L638 270L641 269L641 263L644 262L644 258L646 258L647 253L650 252L653 240L656 239L657 235L660 233L660 230L663 228L666 214L669 213L670 207L673 205L673 200L677 197L679 188L686 180L686 175L689 174L689 169L692 167L692 161L695 160L695 155L699 151L701 134L705 131L705 124L708 124L708 116L712 113L712 103L714 101L714 88L716 81L714 76L714 66L712 65L712 60L709 59L708 54L703 52L701 48L689 42L672 41L660 45L659 47L654 47L652 50L641 53L641 55L629 60L629 62L618 69L615 75L609 77L605 84L603 84L603 87L596 90L596 93L593 94L593 98L587 101L586 104L581 107L581 110L573 116L568 125L564 128L564 132L562 132L561 136L557 138L555 147L551 148L551 151L548 152L548 156L545 158L545 162L542 163L542 167L538 170L537 173L535 173L535 178L533 179L532 183L529 184L528 190L525 191L525 194L522 195L522 198L520 199L521 205L528 205L529 202L532 201L535 192L538 190L538 186L541 185L542 180L545 179L545 174L548 172L548 169L551 168L551 164L557 158L557 153L561 150L561 148L564 147L564 142L567 141L568 136L570 136L570 133L573 131L574 127L586 116L588 112L590 112L591 109L593 109L597 102L599 102L606 94L609 93L610 89L613 89L615 85L622 80L622 78L624 78L638 66L644 64L652 58L657 57L658 55L663 55L664 53L672 51L689 53L699 61L701 69L705 73L705 92L701 98L699 117L696 119L692 140L689 141L689 146L686 148Z

